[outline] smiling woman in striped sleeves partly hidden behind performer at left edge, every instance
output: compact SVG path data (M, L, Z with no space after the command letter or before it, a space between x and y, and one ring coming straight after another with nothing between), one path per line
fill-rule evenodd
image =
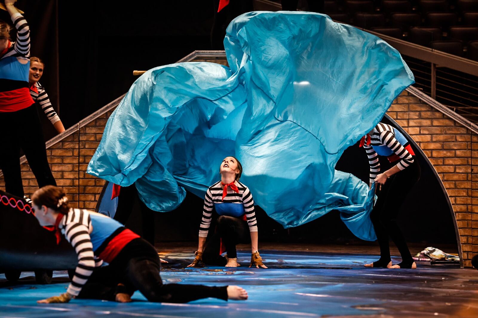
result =
M40 83L38 83L40 78L42 78L44 66L45 65L43 64L43 61L38 57L30 57L30 75L28 76L30 95L35 102L40 104L46 117L48 117L56 131L61 134L65 131L65 127L63 127L60 117L58 117L53 109L52 103L50 102L50 98L48 98L48 94L46 94L45 89L42 85L40 85Z

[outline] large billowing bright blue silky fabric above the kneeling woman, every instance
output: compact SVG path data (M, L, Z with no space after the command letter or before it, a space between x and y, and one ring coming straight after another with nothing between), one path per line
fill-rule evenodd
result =
M284 227L337 209L355 235L374 240L373 192L334 167L414 83L400 54L310 12L243 14L224 46L229 67L170 64L136 80L87 172L135 182L141 200L163 212L185 189L204 197L222 159L235 156L256 204Z

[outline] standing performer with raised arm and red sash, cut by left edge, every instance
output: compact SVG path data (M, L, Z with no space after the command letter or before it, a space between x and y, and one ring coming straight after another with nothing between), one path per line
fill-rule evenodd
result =
M30 96L30 28L22 14L5 0L5 7L17 29L17 41L11 42L10 26L0 21L0 169L5 190L22 197L20 149L25 153L39 187L56 185L48 160L38 112Z

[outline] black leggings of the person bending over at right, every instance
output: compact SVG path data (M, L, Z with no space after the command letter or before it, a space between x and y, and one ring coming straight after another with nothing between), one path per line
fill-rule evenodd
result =
M400 255L402 255L402 262L404 264L413 263L405 237L398 227L397 215L407 194L420 179L420 175L420 165L415 159L413 164L392 175L382 185L377 202L370 213L370 219L380 245L379 265L386 265L390 262L389 236L397 245Z

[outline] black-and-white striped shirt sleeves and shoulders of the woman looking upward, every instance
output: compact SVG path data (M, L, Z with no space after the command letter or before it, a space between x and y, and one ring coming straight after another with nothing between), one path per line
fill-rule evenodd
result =
M214 205L223 203L243 204L244 212L246 213L246 220L249 225L249 231L257 232L256 213L254 212L254 200L252 199L252 194L250 193L249 188L239 181L236 181L236 186L239 189L239 193L228 188L228 194L224 198L224 201L222 200L223 190L221 188L221 181L213 184L207 189L206 197L204 199L203 218L199 227L200 237L207 237L209 227L211 226Z

